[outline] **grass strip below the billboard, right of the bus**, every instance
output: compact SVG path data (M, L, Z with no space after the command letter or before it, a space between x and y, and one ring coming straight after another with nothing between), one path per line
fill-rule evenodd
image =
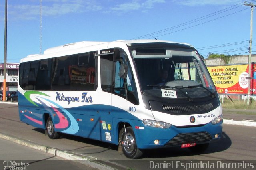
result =
M222 104L222 108L226 109L256 109L256 101L252 100L250 105L247 105L247 101L244 100L237 100L232 99L233 102L230 99L224 98L224 102ZM220 99L220 102L222 102L222 99Z

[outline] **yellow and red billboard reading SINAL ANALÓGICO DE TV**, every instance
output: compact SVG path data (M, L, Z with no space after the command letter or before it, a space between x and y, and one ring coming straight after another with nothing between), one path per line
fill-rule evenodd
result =
M251 68L252 79L248 79L248 64L207 67L219 94L246 95L251 80L250 94L256 95L256 64Z

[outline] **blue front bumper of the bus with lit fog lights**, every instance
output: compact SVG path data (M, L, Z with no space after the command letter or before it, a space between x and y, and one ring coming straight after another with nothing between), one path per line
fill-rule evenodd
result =
M181 147L182 144L204 144L220 140L222 122L213 125L207 123L198 127L155 128L144 125L136 129L136 143L140 149Z

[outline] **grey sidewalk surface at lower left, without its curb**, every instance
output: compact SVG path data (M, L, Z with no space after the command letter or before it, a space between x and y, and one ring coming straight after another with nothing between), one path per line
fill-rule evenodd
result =
M0 138L0 170L95 170L79 162L63 160L41 150L36 150L16 142Z

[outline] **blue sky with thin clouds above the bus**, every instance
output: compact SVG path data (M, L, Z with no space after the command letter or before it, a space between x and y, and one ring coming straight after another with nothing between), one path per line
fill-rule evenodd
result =
M250 6L243 0L8 0L7 63L80 41L134 39L189 43L209 53L248 55ZM246 3L256 4L256 0ZM254 30L256 14L254 10ZM0 63L4 63L5 0L0 0ZM40 43L40 32L42 40ZM256 34L252 35L256 54Z

